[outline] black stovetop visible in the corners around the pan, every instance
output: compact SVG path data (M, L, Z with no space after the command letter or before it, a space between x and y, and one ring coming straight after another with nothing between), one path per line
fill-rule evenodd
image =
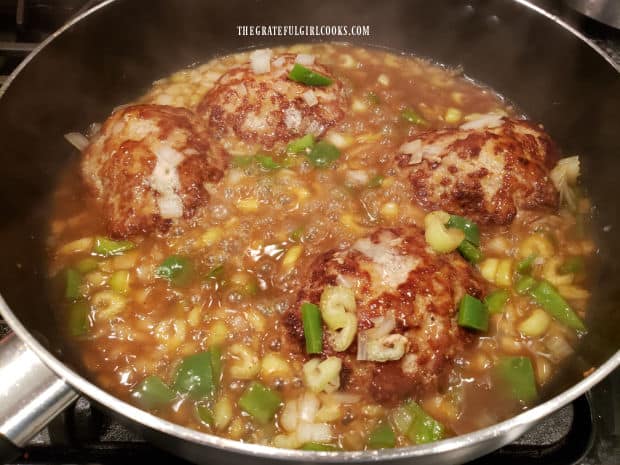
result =
M101 0L0 0L0 84L47 35ZM620 63L620 31L533 0L562 17ZM8 332L0 320L0 337ZM80 398L39 433L16 463L141 465L186 463ZM592 391L540 422L514 443L470 465L615 465L620 462L620 369Z

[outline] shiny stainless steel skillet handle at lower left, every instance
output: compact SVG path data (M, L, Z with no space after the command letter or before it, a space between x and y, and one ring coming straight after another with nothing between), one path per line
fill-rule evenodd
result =
M0 463L62 412L78 394L15 334L0 341Z

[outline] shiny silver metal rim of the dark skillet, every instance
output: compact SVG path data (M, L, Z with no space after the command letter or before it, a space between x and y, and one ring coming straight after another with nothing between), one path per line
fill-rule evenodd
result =
M98 11L99 9L105 8L117 1L118 0L106 0L96 5L86 10L85 12L75 16L72 20L70 20L56 32L51 34L20 63L19 66L7 78L7 80L0 88L0 98L2 98L11 83L17 78L17 76L28 65L28 63L49 43L51 43L67 29L70 29L77 22L90 16L92 13ZM609 57L597 44L585 37L573 26L567 24L565 21L544 10L543 8L534 5L529 0L513 1L522 5L523 7L535 11L536 13L547 18L547 20L553 21L558 26L569 31L572 35L585 42L605 61L607 61L613 69L620 73L620 64L615 63L611 59L611 57ZM227 452L244 455L255 455L272 460L298 460L316 463L362 463L377 460L398 460L404 458L428 457L443 453L457 452L459 450L463 451L466 450L468 446L480 444L488 444L487 452L490 452L513 441L518 436L523 434L529 427L532 427L537 421L544 418L546 415L567 405L569 402L572 402L574 399L592 388L595 384L602 381L607 375L609 375L616 367L620 365L620 350L618 350L615 354L610 356L605 363L598 367L592 374L582 379L578 383L574 384L567 390L547 400L546 402L537 405L536 407L523 413L520 413L519 415L511 417L508 420L504 420L500 423L496 423L489 427L476 430L474 432L464 435L455 436L425 445L408 446L398 449L383 449L380 451L300 451L294 449L279 449L276 447L264 446L259 444L243 443L232 439L214 436L208 433L202 433L197 430L177 425L170 421L159 418L153 414L150 414L144 410L141 410L107 393L106 391L91 383L82 375L78 374L73 369L65 365L58 358L56 358L50 351L43 347L43 345L26 329L26 327L21 323L17 316L11 311L11 309L1 295L0 314L4 317L4 319L11 327L11 329L15 332L15 334L29 347L30 350L32 350L41 359L41 361L45 365L47 365L52 371L54 371L60 379L64 380L67 384L75 388L79 393L85 395L88 398L96 400L98 403L103 404L105 407L114 411L116 414L127 417L154 431L168 434L184 441L197 443L203 446L215 447ZM476 452L480 451L478 450ZM481 455L471 453L468 454L467 452L463 452L463 454L463 459L470 459L474 455Z

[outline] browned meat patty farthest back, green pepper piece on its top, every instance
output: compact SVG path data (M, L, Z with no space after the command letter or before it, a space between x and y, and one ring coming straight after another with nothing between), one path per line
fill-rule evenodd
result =
M198 114L226 150L236 152L247 144L271 149L309 133L319 136L342 119L342 83L319 64L304 66L329 76L332 84L310 87L288 79L296 57L267 56L269 71L261 74L250 64L233 68L205 95Z

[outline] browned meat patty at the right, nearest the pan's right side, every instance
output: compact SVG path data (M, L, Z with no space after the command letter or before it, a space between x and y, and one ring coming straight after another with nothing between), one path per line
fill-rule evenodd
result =
M558 150L527 121L489 116L417 135L400 150L400 175L407 177L412 197L429 210L505 225L519 209L558 207L549 178Z

